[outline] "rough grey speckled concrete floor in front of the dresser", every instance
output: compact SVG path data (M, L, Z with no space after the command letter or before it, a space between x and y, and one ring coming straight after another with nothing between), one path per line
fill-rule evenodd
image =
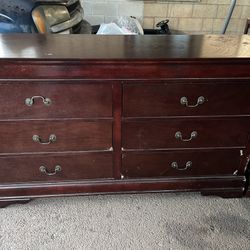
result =
M0 210L1 250L249 250L250 199L199 194L38 199Z

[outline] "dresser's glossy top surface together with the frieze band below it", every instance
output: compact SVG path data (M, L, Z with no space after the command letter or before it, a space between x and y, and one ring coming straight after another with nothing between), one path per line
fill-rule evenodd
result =
M249 36L2 35L0 78L249 77L249 44Z

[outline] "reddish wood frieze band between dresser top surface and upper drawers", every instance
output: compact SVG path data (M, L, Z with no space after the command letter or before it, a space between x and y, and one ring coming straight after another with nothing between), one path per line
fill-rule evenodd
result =
M110 37L111 39L111 37ZM62 40L62 39L60 39ZM245 42L243 47L247 47ZM1 43L0 43L1 45ZM79 46L82 46L79 45ZM105 46L104 44L102 46ZM138 43L138 46L139 45ZM216 47L216 46L215 46ZM204 50L206 48L204 47ZM218 48L219 50L219 48ZM120 52L118 52L120 53ZM162 54L165 53L162 52ZM249 55L245 52L245 57ZM157 55L155 55L157 56ZM250 57L250 56L249 56ZM108 57L109 58L109 57ZM16 60L0 58L0 79L167 79L167 78L245 78L248 58L228 59L137 59L137 60ZM221 69L223 65L223 70ZM48 67L50 68L48 70ZM178 72L177 72L177 71ZM225 73L226 72L226 73Z

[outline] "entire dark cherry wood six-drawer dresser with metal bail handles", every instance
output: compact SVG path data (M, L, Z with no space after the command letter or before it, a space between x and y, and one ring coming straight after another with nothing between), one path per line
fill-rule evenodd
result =
M242 197L250 36L0 36L0 206L194 191Z

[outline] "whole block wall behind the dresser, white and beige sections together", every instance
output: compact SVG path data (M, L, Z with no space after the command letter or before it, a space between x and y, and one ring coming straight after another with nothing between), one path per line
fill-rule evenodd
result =
M175 0L177 1L177 0ZM197 0L198 1L198 0ZM81 0L84 16L91 24L110 22L118 16L136 16L144 28L153 28L168 18L176 33L219 33L223 27L231 0ZM246 18L250 18L250 0L238 0L227 34L242 34Z

